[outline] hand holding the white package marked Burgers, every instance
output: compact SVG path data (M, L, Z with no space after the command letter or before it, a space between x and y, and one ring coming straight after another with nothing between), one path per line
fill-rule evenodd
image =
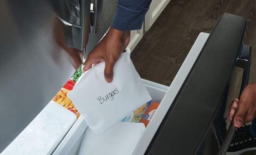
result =
M107 83L113 79L113 67L121 53L130 42L131 31L119 31L112 27L97 46L89 53L83 66L83 73L102 61L105 61L104 77Z

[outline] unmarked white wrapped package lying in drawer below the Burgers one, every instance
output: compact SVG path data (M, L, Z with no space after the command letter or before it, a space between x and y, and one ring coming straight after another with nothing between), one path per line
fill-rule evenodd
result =
M144 130L143 123L133 122L118 122L101 134L87 128L79 155L131 155Z

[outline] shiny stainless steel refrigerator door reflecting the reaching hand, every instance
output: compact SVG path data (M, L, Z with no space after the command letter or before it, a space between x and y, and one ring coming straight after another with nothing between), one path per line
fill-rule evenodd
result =
M68 3L67 0L0 1L0 152L82 63L81 50L67 46L69 38L64 25L70 24L66 20L72 18L69 14L67 18L62 15Z

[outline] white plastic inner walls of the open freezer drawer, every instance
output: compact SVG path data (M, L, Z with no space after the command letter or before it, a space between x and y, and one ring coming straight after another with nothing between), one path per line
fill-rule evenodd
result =
M162 122L167 110L171 106L175 96L177 95L183 82L189 74L194 62L197 60L197 57L201 52L201 49L204 46L208 36L208 33L199 34L197 40L189 52L189 55L183 62L182 67L178 71L170 87L142 79L150 93L150 96L152 97L152 102L158 102L160 105L157 108L153 119L146 127L140 140L135 142L137 143L137 146L135 147L132 155L143 155L147 150L147 147L149 146L150 141L156 133L157 128ZM57 147L53 155L77 155L79 153L80 145L86 128L87 124L85 119L80 116L80 118L67 133L65 138L62 140L60 145Z

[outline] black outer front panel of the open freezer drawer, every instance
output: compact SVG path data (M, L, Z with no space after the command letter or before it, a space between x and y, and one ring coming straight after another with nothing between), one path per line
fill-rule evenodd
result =
M220 103L225 103L246 22L227 13L220 17L145 154L194 155L201 143L203 147L214 116L220 117ZM212 143L218 147L217 140Z

